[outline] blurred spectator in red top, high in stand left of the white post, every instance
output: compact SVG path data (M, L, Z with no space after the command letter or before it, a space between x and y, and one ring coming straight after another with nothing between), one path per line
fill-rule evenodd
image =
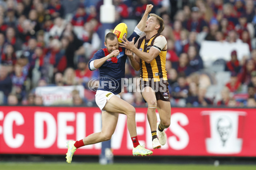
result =
M86 23L88 15L86 14L85 7L83 4L80 4L77 8L75 16L72 18L72 25L73 26L84 26Z

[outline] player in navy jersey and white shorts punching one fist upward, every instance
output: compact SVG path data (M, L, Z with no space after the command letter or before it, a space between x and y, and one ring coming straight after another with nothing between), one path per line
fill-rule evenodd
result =
M142 19L128 40L132 40L134 37L138 40L145 29L146 20L152 8L153 5L147 5ZM102 131L90 134L79 141L68 141L67 163L71 163L72 156L77 148L110 140L116 129L119 113L127 116L127 127L134 145L133 155L146 156L153 153L151 150L142 147L137 139L135 108L121 99L119 95L121 92L121 78L125 77L125 61L127 56L131 61L131 65L134 65L136 61L131 51L119 48L116 34L108 33L105 36L104 44L106 48L97 51L89 62L89 69L91 71L99 69L99 88L97 89L95 100L102 110Z

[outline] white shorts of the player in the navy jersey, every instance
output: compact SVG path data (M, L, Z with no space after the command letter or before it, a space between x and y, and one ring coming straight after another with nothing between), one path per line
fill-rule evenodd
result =
M115 94L109 91L97 90L95 94L96 104L99 106L100 110L105 111L103 108L105 107L107 100L109 100ZM116 94L117 97L120 98L119 94Z

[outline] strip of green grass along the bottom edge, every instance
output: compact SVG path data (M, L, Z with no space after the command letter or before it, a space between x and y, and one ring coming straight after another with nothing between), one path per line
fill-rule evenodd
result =
M202 165L202 164L110 164L98 163L15 163L0 162L1 170L256 170L255 165Z

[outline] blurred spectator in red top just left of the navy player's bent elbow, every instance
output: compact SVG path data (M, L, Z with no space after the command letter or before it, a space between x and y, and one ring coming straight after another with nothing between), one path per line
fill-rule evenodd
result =
M79 85L83 85L88 88L87 83L91 80L93 71L90 71L87 65L87 60L85 56L78 56L78 63L76 69L76 82Z

